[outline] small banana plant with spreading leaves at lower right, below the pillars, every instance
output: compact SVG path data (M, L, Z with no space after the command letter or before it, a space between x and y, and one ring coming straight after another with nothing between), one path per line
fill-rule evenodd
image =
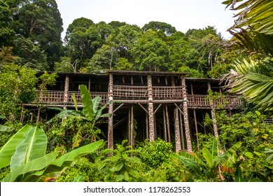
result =
M223 155L218 155L217 140L214 139L211 144L211 151L207 148L202 149L202 158L198 158L193 153L181 152L180 155L176 155L176 158L181 160L187 169L195 174L198 179L207 177L210 181L214 181L217 176L221 177L221 165L224 165L230 158L236 156L236 151L241 146L241 142L237 142Z

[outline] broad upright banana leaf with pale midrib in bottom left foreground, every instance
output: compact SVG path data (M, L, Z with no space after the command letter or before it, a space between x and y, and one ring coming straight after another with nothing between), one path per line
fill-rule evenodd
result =
M29 130L27 137L17 146L10 161L10 170L25 165L31 160L41 158L45 155L48 139L43 129L33 127Z

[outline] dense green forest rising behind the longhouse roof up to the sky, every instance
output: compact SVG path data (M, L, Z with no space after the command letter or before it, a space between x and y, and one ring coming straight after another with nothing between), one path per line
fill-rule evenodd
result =
M37 71L187 71L215 78L227 73L239 56L215 27L184 34L165 22L138 27L78 18L62 42L55 1L1 1L1 10L1 63Z

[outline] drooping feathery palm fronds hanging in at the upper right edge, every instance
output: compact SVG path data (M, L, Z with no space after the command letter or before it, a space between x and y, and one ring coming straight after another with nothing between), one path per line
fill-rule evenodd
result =
M238 2L239 6L235 7ZM230 92L243 94L261 111L272 111L273 1L228 0L223 3L239 11L235 25L230 27L234 36L230 40L232 45L251 57L237 62L235 70L223 77L230 80L227 87L232 87Z

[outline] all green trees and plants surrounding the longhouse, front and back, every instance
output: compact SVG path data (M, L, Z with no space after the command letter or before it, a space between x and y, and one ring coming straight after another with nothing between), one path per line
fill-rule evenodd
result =
M216 27L183 33L165 22L138 27L78 18L62 41L55 0L0 0L0 179L273 181L273 125L266 120L273 115L273 1L223 4L237 13L228 29L230 40ZM244 99L244 109L233 116L216 111L219 137L200 134L190 153L175 153L172 143L162 139L134 149L123 141L107 149L94 127L109 115L102 114L107 106L96 109L102 116L76 109L61 111L47 123L20 123L22 104L55 85L57 74L49 71L109 69L221 78L228 92ZM43 74L37 76L38 71ZM204 125L212 124L207 116Z

